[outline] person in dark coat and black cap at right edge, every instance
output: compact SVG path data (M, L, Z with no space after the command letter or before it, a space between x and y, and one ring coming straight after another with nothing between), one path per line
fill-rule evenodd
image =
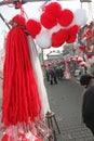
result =
M89 74L82 75L80 84L85 88L82 99L82 120L94 136L94 77Z

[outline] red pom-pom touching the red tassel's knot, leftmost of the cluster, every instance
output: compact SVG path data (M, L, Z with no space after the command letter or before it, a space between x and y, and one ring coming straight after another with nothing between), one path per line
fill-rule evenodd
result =
M28 33L31 35L31 37L36 37L40 30L41 30L41 24L35 20L29 20L27 23L26 23L26 28L28 30Z

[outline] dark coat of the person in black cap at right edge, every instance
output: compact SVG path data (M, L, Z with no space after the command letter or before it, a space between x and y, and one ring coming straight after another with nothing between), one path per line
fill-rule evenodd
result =
M94 130L94 86L88 88L83 95L82 103L83 123L91 130Z

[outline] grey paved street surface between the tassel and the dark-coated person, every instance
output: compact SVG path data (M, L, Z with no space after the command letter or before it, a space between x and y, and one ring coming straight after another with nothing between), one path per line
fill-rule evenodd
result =
M94 141L91 131L81 124L82 87L75 79L62 79L57 85L44 81L52 112L55 113L61 134L54 124L56 141ZM0 98L1 98L0 79ZM1 99L0 99L1 104Z

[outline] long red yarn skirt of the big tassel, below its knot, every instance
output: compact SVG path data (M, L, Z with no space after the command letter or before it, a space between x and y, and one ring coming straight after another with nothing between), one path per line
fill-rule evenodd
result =
M41 102L25 33L13 27L6 38L3 70L2 121L35 121L41 117Z

